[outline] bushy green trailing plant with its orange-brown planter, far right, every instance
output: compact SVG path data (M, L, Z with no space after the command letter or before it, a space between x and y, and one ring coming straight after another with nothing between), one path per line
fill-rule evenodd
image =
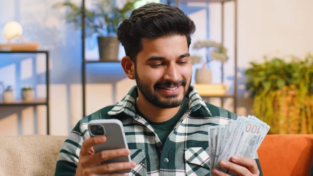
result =
M245 71L253 113L271 126L270 133L313 133L313 56L286 60L264 57Z

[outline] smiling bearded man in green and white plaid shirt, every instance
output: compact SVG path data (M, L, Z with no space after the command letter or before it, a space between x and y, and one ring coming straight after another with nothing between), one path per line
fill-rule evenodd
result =
M80 120L60 151L55 175L209 175L207 129L237 115L202 101L190 85L190 35L194 23L179 9L148 4L134 10L118 29L126 56L121 65L137 86L116 105ZM129 149L95 153L105 137L89 138L90 120L116 118ZM99 164L131 155L131 162ZM220 166L238 175L259 175L254 159L233 156ZM214 169L215 175L228 175Z

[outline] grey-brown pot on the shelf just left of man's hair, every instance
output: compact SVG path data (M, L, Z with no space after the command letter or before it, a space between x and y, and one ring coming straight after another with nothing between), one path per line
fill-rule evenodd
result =
M98 37L100 61L118 61L119 41L117 37Z

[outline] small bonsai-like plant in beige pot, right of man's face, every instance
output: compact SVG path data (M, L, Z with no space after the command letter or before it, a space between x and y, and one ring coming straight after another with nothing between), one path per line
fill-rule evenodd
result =
M195 63L201 63L201 68L198 68L196 70L196 83L206 83L209 84L212 82L212 71L211 69L207 68L208 63L211 60L219 60L220 62L224 63L228 60L227 56L227 49L218 42L211 41L211 40L203 40L203 41L197 41L193 45L193 49L201 49L205 48L206 55L203 62L203 59L198 56L194 55L191 57L191 62L193 64Z

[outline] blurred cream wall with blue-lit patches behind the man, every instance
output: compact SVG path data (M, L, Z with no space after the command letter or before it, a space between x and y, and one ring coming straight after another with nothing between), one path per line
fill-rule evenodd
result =
M50 57L50 134L67 135L82 114L82 40L81 31L73 30L64 21L65 10L52 9L63 1L0 0L0 43L6 39L3 27L9 21L23 26L25 42L40 42L40 50L48 50ZM80 1L76 1L80 3ZM313 52L313 23L311 0L238 0L238 108L239 115L250 113L252 100L245 91L244 70L251 61L264 55L303 57ZM196 23L193 41L220 41L220 5L183 3L180 8ZM233 89L233 12L234 4L225 3L224 45L229 61L225 63L224 83ZM95 38L86 39L87 59L97 58ZM191 46L192 48L192 46ZM191 49L191 54L196 51ZM124 55L120 48L119 59ZM45 62L42 54L0 54L0 82L12 85L19 97L20 86L34 85L36 95L45 97ZM213 82L220 81L219 64L213 68ZM194 65L194 69L199 65ZM34 71L34 69L35 71ZM194 78L194 77L193 77ZM193 80L194 83L194 80ZM118 102L135 82L126 78L119 63L87 65L87 114ZM215 103L212 100L212 103ZM232 100L224 108L233 111ZM217 103L218 105L218 100ZM0 107L0 135L45 134L45 106Z

